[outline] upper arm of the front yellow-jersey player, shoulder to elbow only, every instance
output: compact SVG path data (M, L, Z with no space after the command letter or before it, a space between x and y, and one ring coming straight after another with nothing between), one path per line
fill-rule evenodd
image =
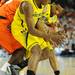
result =
M33 19L33 7L30 3L24 2L22 4L22 10L25 15L25 20L30 32L33 32L34 29L34 19Z

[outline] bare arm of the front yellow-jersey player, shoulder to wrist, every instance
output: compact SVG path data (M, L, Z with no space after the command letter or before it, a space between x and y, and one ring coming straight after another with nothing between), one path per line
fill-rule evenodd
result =
M32 16L33 11L34 11L33 8L32 8L32 5L28 2L24 2L22 4L22 10L23 10L23 13L25 14L25 17L26 17L26 22L27 22L29 32L32 35L45 38L47 36L47 34L45 34L42 31L39 31L38 29L35 28L34 19L33 19L33 16Z

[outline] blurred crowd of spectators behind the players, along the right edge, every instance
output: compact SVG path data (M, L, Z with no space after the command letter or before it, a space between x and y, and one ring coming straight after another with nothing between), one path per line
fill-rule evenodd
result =
M75 56L75 0L57 0L56 3L60 3L65 10L65 15L60 20L65 28L66 39L60 55Z

